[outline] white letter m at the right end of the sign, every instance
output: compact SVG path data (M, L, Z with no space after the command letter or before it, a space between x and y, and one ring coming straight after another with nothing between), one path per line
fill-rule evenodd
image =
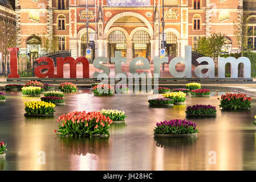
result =
M231 78L238 77L238 65L239 63L243 63L243 77L250 78L251 77L251 61L248 57L239 57L235 59L235 57L219 57L218 59L218 77L225 78L225 66L227 63L231 65Z

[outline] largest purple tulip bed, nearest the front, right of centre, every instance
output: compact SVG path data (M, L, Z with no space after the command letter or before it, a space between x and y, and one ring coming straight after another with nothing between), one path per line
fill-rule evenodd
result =
M156 137L196 137L197 133L196 123L185 119L173 119L156 123L154 129Z

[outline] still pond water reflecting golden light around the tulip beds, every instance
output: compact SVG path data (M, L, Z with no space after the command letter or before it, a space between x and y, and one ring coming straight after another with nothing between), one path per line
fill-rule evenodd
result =
M95 97L90 89L65 94L65 106L55 107L55 118L26 118L22 97L6 92L0 103L0 142L7 143L0 170L256 170L256 132L253 122L256 98L250 111L221 111L213 91L211 97L187 96L186 105L172 108L148 106L151 93L115 94ZM154 138L156 122L184 119L186 106L210 104L216 118L190 119L197 123L197 138ZM60 138L59 115L75 110L124 110L126 124L113 124L109 138ZM40 156L45 154L45 164ZM216 156L216 164L211 164Z

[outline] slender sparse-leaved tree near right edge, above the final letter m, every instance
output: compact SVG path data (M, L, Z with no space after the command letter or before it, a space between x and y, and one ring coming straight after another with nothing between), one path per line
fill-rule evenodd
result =
M250 51L251 47L247 45L248 35L252 34L253 30L248 31L248 15L242 15L241 20L233 21L233 27L234 27L234 35L235 40L237 41L237 45L239 50L241 51L241 56L243 56L243 53Z

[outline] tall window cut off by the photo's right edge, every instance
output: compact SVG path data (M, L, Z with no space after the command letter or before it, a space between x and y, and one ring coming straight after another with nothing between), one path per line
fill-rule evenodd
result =
M249 17L247 22L247 46L250 49L256 50L256 16Z

